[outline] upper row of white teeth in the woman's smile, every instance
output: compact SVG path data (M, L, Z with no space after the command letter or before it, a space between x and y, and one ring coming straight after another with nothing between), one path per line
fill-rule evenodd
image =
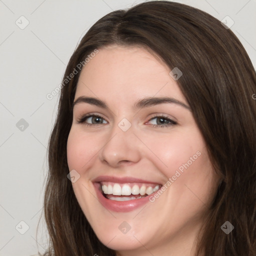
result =
M101 187L104 194L113 194L113 195L130 195L130 194L149 195L159 189L159 185L152 187L152 186L146 186L145 184L142 184L142 186L139 187L137 184L134 184L134 185L122 184L121 186L118 183L103 184Z

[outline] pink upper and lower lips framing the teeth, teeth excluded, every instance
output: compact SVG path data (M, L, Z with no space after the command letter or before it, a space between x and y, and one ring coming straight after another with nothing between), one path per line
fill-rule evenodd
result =
M135 182L141 182L141 183L155 183L152 181L146 181L138 178L133 177L114 177L114 176L98 176L94 180L92 180L98 200L100 203L108 210L116 211L116 212L127 212L132 211L147 202L149 202L149 196L153 196L154 193L157 193L157 191L153 192L150 195L147 195L145 197L141 197L138 199L128 200L128 201L115 201L107 199L102 193L100 189L100 182L101 181L111 181L115 183L135 183ZM159 184L159 183L155 183ZM159 188L160 189L160 188Z

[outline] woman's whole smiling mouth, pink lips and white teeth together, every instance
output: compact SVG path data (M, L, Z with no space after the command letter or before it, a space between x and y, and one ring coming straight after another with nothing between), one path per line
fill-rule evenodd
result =
M100 176L93 180L99 202L108 210L126 212L149 202L162 186L133 177Z

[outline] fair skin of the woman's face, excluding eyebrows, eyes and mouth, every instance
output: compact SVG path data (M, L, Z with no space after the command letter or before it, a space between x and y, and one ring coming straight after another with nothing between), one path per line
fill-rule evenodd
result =
M194 255L193 243L216 191L217 177L191 110L175 103L133 107L141 98L162 96L188 106L169 72L142 47L111 45L99 48L77 83L74 100L96 97L107 108L84 102L74 105L67 160L69 170L75 169L80 178L72 186L95 234L118 255ZM91 118L77 123L88 113L103 119L94 126L86 126ZM155 116L162 114L177 124L160 125ZM118 126L123 118L131 124L125 132ZM198 151L200 156L153 202L115 212L97 200L91 180L99 175L165 184ZM131 226L126 234L118 229L123 221Z

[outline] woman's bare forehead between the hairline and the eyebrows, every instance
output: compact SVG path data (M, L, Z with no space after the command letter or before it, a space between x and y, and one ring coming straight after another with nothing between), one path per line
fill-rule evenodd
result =
M79 75L75 98L81 95L125 100L172 96L186 102L169 67L145 48L111 45L98 49ZM121 101L124 102L124 101Z

